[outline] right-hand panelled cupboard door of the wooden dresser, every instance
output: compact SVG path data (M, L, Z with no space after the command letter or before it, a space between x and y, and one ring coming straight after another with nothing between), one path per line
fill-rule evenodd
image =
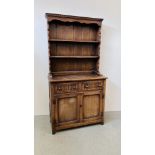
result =
M101 118L102 104L102 91L85 92L82 102L83 121Z

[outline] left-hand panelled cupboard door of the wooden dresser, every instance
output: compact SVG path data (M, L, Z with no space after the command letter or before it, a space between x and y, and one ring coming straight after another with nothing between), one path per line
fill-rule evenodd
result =
M56 96L55 118L57 126L79 122L78 98L78 94Z

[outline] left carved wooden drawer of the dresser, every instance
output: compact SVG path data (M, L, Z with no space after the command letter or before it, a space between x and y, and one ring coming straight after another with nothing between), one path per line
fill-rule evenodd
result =
M58 83L54 86L55 93L57 94L77 92L79 90L78 88L79 87L77 82Z

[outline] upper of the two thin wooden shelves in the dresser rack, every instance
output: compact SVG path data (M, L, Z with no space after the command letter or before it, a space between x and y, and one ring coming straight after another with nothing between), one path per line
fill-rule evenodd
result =
M63 39L49 39L49 42L68 42L68 43L100 43L100 41L91 40L63 40Z

